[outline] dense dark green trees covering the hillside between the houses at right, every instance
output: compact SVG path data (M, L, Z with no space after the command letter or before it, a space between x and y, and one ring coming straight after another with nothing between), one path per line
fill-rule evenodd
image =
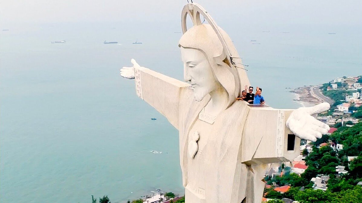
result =
M331 147L325 146L317 148L319 144L331 140L334 143L343 144L343 150L334 151ZM313 143L313 151L308 154L305 161L308 168L298 176L289 173L286 167L282 177L277 176L269 179L265 178L267 184L272 182L279 186L290 185L291 188L284 194L280 194L272 189L265 189L268 192L266 198L289 198L300 203L357 203L362 200L362 188L357 186L362 181L362 122L352 127L341 126L332 135L324 135ZM358 156L348 164L347 156ZM336 166L345 166L347 174L336 176ZM328 190L312 189L311 178L318 174L329 175ZM304 190L300 190L301 187Z

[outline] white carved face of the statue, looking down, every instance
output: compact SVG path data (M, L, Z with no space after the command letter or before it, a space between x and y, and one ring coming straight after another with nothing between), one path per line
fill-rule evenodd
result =
M201 101L207 94L221 86L212 73L209 61L201 51L181 47L181 60L184 62L184 79L194 88L196 101Z

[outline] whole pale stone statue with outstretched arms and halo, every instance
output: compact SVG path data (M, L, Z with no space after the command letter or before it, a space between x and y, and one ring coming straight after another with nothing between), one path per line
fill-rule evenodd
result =
M194 24L189 30L188 15ZM181 17L185 82L133 59L121 76L135 78L136 94L179 130L186 203L260 203L268 163L293 160L300 138L315 141L327 133L311 115L329 104L293 110L236 100L250 83L232 40L198 4L187 4ZM289 150L288 137L294 141Z

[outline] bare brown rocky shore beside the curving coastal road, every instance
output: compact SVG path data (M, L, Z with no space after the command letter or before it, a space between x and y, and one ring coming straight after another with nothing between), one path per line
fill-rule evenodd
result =
M316 97L311 88L315 86L303 86L295 88L289 92L294 93L295 98L293 99L295 102L299 103L302 107L312 107L316 104L324 102L324 100Z

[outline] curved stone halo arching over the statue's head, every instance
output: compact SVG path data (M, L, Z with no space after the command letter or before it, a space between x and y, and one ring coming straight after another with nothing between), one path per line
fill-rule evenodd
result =
M235 95L237 97L240 96L240 90L241 90L241 83L240 83L240 77L239 77L239 73L238 73L238 69L235 66L235 62L233 61L233 57L231 56L230 50L225 42L224 37L222 36L219 27L216 25L214 19L212 19L212 17L209 15L209 13L207 13L207 11L202 8L199 4L196 3L190 3L190 4L186 4L184 6L184 8L182 9L182 13L181 13L181 27L182 27L182 34L185 34L187 31L187 27L186 27L186 17L187 15L190 16L193 25L197 26L197 25L201 25L201 19L200 19L200 14L205 17L205 20L207 20L207 22L209 22L209 24L211 25L212 29L215 31L216 35L218 36L221 44L223 45L223 54L226 55L226 59L228 60L230 66L231 66L231 72L234 75L235 78ZM221 59L223 60L223 59Z

